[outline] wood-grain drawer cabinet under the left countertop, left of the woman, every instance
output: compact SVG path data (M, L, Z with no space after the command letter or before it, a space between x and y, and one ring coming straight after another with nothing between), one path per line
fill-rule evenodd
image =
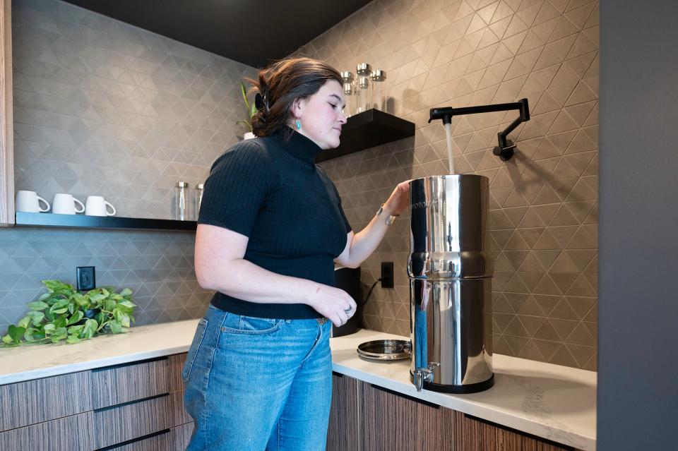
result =
M1 385L0 450L185 450L193 431L185 360L175 354Z

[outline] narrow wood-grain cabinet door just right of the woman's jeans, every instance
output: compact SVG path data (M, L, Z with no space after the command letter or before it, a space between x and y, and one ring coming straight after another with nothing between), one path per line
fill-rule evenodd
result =
M358 381L332 373L332 408L327 431L327 451L359 449Z

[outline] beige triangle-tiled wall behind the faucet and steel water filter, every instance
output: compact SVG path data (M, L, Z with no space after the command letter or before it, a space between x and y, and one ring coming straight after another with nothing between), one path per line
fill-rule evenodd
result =
M490 181L494 351L593 370L597 14L589 0L376 0L296 52L342 71L362 62L387 71L388 112L416 126L414 138L323 163L354 229L398 181L448 173L444 129L427 124L429 108L528 97L532 118L509 135L518 144L509 162L492 148L513 112L452 123L456 172ZM409 335L408 252L406 221L396 222L362 265L366 289L381 261L401 276L398 308L391 290L374 289L368 327Z

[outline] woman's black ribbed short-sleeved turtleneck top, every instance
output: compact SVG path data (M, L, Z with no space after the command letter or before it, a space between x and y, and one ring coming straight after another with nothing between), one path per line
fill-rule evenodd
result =
M333 260L343 252L351 227L337 189L314 163L320 151L287 126L233 145L212 166L198 224L249 237L244 259L255 265L333 286ZM321 317L304 303L254 303L220 292L212 304L258 318Z

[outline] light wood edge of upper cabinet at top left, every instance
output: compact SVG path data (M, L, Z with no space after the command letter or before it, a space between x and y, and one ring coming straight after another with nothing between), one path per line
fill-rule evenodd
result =
M11 0L0 0L0 226L14 224Z

